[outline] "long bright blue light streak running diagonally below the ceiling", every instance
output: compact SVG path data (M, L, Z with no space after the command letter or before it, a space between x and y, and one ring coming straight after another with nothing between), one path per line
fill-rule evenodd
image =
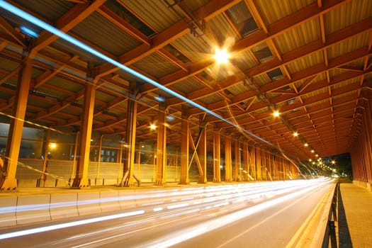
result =
M177 98L181 99L182 101L185 101L186 103L191 104L192 106L201 109L201 111L204 111L206 113L209 113L210 115L213 115L215 118L218 118L220 120L223 120L225 123L228 123L235 128L238 128L239 130L242 130L242 132L247 133L248 135L251 135L252 137L255 137L257 140L261 140L262 142L265 142L268 145L271 145L275 147L271 142L262 139L261 137L254 135L253 133L250 133L249 131L245 130L244 128L240 127L239 125L233 123L230 120L227 120L223 118L221 115L218 115L217 113L214 113L213 111L210 111L208 108L205 108L204 106L201 106L198 103L195 103L191 101L190 99L182 96L181 94L178 94L171 89L168 89L167 87L163 86L162 84L159 84L157 81L154 81L148 77L145 77L144 75L136 72L133 69L130 69L129 67L125 67L125 65L120 64L119 62L111 59L110 57L107 57L106 55L103 55L101 52L98 52L94 50L92 47L89 47L88 45L85 45L84 43L81 43L81 41L73 38L70 35L67 35L67 33L63 33L61 30L58 30L57 28L54 28L53 26L50 26L49 24L41 21L38 18L35 18L35 16L30 15L29 13L26 13L25 11L22 11L21 9L18 9L16 6L13 6L9 3L7 3L4 0L0 0L0 7L3 9L6 9L7 11L25 19L26 21L30 21L31 23L35 24L36 26L39 26L40 28L43 28L47 30L48 32L59 36L60 38L68 41L69 43L72 43L73 45L76 45L77 47L80 47L83 50L86 50L86 52L90 52L92 55L95 55L97 57L100 57L102 60L105 60L106 62L113 64L115 67L119 67L120 69L123 69L125 72L128 72L132 74L135 77L138 77L144 81L147 81L148 83L152 84L153 86L162 89L163 91L171 94L172 96L176 96Z

